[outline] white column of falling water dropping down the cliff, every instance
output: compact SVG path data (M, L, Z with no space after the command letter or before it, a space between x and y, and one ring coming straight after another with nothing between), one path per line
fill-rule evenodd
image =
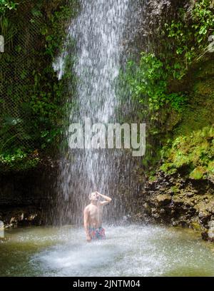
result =
M81 0L81 11L71 20L68 38L76 43L74 71L78 79L76 106L66 118L71 123L115 123L116 80L126 59L126 42L133 21L131 0ZM128 29L129 27L129 29ZM133 31L131 32L133 34ZM58 78L63 76L68 46L56 60ZM125 92L124 92L125 94ZM65 134L69 141L68 128ZM113 198L108 205L108 221L127 214L128 199L136 188L131 177L133 160L130 153L110 149L73 149L65 147L61 155L58 179L58 218L61 223L82 222L83 208L93 190ZM133 158L134 159L134 158ZM104 212L104 216L107 213Z

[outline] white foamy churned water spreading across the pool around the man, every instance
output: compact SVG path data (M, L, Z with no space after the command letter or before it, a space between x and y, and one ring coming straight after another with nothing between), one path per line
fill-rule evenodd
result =
M213 273L214 256L199 240L188 239L188 233L130 225L106 227L106 236L106 240L87 243L83 230L72 230L65 243L39 253L31 262L49 276Z

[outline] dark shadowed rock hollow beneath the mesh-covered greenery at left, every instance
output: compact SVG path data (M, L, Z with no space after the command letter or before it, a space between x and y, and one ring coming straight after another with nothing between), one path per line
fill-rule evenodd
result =
M57 165L0 175L0 220L4 227L51 223Z

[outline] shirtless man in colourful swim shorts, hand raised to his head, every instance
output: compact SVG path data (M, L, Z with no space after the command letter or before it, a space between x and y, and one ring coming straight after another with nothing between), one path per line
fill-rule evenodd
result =
M99 197L106 201L100 201ZM84 210L84 228L86 231L86 240L105 239L105 230L102 228L103 205L111 202L111 198L101 193L93 192L88 196L91 204Z

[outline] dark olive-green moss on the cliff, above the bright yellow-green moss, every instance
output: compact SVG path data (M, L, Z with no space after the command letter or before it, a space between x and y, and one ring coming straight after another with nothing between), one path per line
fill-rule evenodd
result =
M202 127L211 126L214 120L214 55L195 64L179 86L188 91L180 123L173 129L173 136L190 135Z

